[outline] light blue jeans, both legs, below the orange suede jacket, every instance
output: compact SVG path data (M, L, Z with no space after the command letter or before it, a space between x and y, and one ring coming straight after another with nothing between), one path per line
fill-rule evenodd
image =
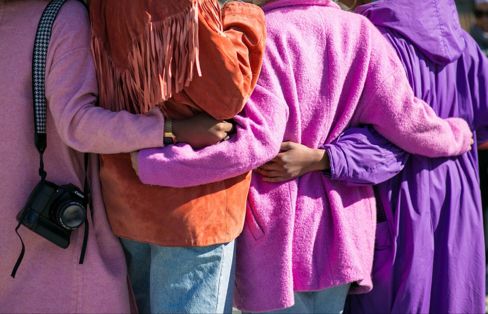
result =
M232 313L235 241L203 247L121 242L139 313Z

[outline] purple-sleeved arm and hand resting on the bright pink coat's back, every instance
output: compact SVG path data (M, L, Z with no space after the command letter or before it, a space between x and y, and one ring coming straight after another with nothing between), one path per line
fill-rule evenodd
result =
M282 153L256 171L264 181L281 182L322 170L348 186L374 185L399 173L409 154L379 135L371 126L347 129L319 149L283 143Z

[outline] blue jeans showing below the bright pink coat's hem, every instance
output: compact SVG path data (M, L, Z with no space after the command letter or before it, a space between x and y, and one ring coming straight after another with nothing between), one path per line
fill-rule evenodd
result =
M347 292L350 283L327 288L321 291L295 292L295 304L289 308L271 312L269 314L291 314L291 313L336 313L344 311ZM243 312L247 313L247 312Z

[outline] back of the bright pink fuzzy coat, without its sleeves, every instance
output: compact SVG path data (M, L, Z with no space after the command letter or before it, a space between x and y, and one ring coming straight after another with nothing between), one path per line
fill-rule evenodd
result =
M366 72L361 71L367 67L368 58L352 56L363 49L361 54L368 53L365 47L369 45L371 29L362 25L365 22L362 18L330 7L328 0L319 1L319 5L314 5L315 1L287 1L287 6L280 7L283 2L271 2L263 7L266 55L259 86L250 100L279 102L287 107L287 119L277 122L283 123L284 129L273 137L283 135L280 141L317 148L350 123L364 85ZM326 20L334 22L324 25ZM347 48L334 47L341 42L344 33L341 28L347 23L357 29L364 26L367 35L355 33ZM363 40L365 44L361 45ZM361 47L354 51L351 47L356 43ZM331 54L332 51L337 54ZM349 69L352 72L354 68L358 69L357 77L354 74L351 78L343 72ZM354 90L331 87L335 84L351 84ZM346 101L351 97L353 104ZM263 105L261 108L266 110ZM324 195L329 196L332 205ZM248 229L244 228L237 240L239 262L234 300L237 307L253 312L289 307L294 302L293 290L317 291L353 281L361 282L359 289L367 291L371 285L368 272L372 263L367 248L373 246L375 220L372 197L370 187L323 182L320 172L283 184L263 182L261 176L253 175L246 213ZM330 210L343 201L346 210L342 214ZM331 241L330 236L339 230L358 239L357 248L351 243ZM346 239L340 242L343 240ZM269 255L273 256L271 263ZM336 271L331 274L329 267ZM264 285L270 289L251 288Z

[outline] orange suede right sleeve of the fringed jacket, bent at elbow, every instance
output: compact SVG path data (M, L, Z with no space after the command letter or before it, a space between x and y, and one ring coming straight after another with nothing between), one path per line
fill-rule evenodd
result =
M199 13L202 76L194 75L173 98L185 103L189 97L212 117L230 119L243 109L261 70L264 13L254 4L234 1L224 7L222 25L213 25L209 21L216 19L205 19L205 14L216 14L210 9Z

